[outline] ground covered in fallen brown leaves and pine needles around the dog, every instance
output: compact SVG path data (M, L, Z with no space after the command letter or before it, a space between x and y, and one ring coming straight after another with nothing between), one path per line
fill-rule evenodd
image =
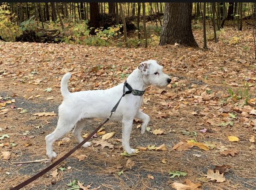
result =
M108 143L98 142L112 148L79 148L23 189L79 189L76 182L68 186L77 179L84 190L167 190L174 189L174 182L193 190L255 190L256 61L252 28L244 28L226 27L219 32L218 43L208 41L209 50L0 42L0 189L51 164L14 162L47 158L45 135L56 127L63 74L72 73L71 92L107 89L124 81L140 62L155 59L172 82L165 89L149 87L144 94L141 109L151 118L149 128L141 135L136 129L140 123L134 122L130 143L132 148L147 147L146 151L121 156L121 123L110 121L93 142L104 132L115 132ZM202 31L193 33L203 47ZM42 112L56 115L35 115ZM88 123L82 134L89 134L99 122ZM65 137L69 139L53 145L57 158L77 144L71 132ZM154 149L160 145L160 150ZM206 179L207 171L216 166L222 166L217 169L224 176L216 171Z

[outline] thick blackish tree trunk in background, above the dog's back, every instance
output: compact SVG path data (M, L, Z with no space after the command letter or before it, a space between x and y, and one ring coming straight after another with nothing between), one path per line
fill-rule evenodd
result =
M95 34L95 29L99 27L98 3L90 3L90 27L93 27L90 33Z

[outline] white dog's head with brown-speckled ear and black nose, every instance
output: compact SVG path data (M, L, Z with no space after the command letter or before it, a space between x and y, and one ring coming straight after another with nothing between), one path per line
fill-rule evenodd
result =
M142 62L138 66L138 69L140 70L142 79L146 85L164 88L171 82L169 75L163 73L163 67L155 60Z

